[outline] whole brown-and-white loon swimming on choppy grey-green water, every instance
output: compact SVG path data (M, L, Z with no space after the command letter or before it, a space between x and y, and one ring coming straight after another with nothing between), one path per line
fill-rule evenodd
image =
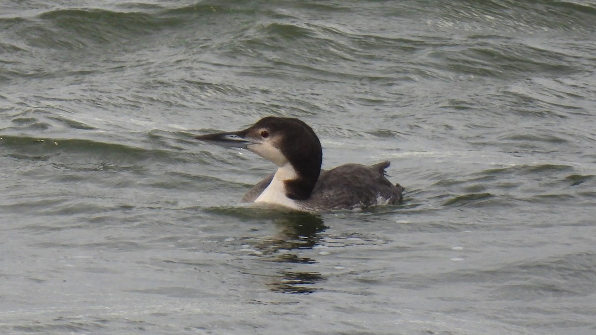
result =
M195 138L224 147L246 148L277 165L277 172L254 185L244 195L244 202L325 212L402 201L403 187L385 178L387 161L321 170L321 142L299 119L269 116L242 131Z

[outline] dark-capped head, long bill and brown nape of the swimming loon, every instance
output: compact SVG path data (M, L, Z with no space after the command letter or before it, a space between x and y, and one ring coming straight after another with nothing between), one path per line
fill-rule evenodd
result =
M311 127L299 119L263 117L247 129L201 135L201 141L225 147L246 148L284 170L285 195L293 200L311 196L321 173L322 148ZM289 173L288 173L289 171Z

